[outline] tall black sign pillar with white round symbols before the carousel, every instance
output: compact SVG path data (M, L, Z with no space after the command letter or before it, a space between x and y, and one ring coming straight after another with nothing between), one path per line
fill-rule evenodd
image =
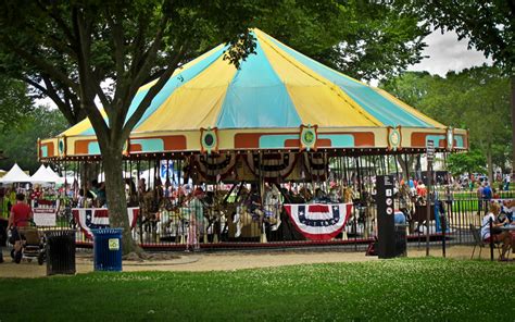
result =
M376 188L378 256L379 258L392 258L395 257L393 176L377 176Z

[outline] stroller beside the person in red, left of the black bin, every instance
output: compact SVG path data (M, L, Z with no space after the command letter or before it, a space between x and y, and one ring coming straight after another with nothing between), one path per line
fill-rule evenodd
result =
M38 260L38 264L42 265L47 259L47 252L45 248L45 236L40 234L36 223L34 221L28 221L28 225L24 227L17 227L18 236L22 242L22 256L15 253L15 249L11 250L11 257L14 262L20 263L22 259L27 259L29 262L33 259ZM17 240L14 239L14 236L11 236L9 243L13 246Z

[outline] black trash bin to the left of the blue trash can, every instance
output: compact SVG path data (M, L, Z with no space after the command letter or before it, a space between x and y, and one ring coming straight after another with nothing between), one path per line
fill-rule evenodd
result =
M75 231L45 232L47 275L75 274Z

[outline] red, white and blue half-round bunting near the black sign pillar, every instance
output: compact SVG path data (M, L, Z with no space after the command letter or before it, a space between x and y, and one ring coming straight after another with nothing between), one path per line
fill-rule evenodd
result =
M285 205L296 228L311 240L335 238L352 213L352 203Z

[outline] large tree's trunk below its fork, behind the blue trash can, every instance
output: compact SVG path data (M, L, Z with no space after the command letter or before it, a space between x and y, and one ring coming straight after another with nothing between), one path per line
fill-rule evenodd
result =
M102 162L105 172L105 193L108 197L109 221L111 227L123 228L123 253L131 251L139 252L130 234L130 226L127 216L127 203L125 200L125 182L123 177L122 151L108 149L102 151Z

